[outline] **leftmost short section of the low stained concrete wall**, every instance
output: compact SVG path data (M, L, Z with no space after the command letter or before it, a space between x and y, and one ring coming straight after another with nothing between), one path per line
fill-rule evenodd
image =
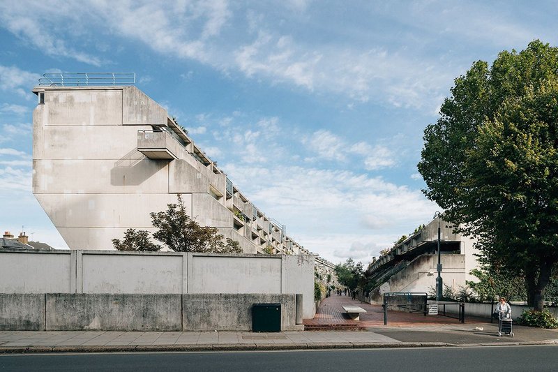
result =
M45 295L0 293L1 331L43 331Z

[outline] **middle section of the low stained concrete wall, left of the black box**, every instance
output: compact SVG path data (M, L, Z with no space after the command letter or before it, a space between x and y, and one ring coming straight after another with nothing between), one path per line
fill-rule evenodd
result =
M47 331L180 331L181 295L46 295Z

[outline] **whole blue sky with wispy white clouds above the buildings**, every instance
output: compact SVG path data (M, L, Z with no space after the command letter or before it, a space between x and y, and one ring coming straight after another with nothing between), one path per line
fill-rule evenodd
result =
M0 230L67 248L31 193L31 89L131 72L287 235L368 264L432 220L423 131L474 61L557 45L553 1L0 0Z

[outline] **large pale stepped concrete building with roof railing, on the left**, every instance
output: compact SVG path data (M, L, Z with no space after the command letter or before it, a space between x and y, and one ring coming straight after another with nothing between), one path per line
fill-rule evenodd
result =
M153 232L149 213L180 193L195 221L244 253L307 253L136 87L49 83L33 89L33 195L70 249L111 250L128 228Z

